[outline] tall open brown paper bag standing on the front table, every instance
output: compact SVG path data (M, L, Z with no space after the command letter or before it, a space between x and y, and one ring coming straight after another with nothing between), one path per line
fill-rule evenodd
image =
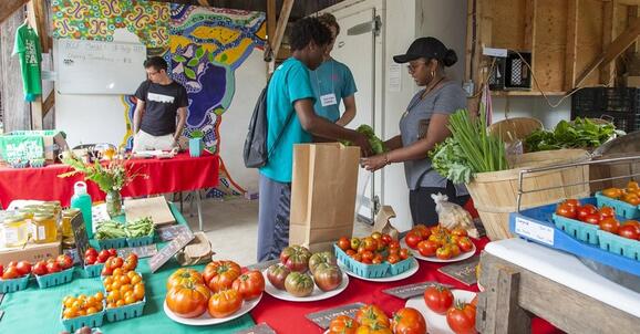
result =
M359 147L295 146L289 244L330 250L340 237L352 234L359 160Z

